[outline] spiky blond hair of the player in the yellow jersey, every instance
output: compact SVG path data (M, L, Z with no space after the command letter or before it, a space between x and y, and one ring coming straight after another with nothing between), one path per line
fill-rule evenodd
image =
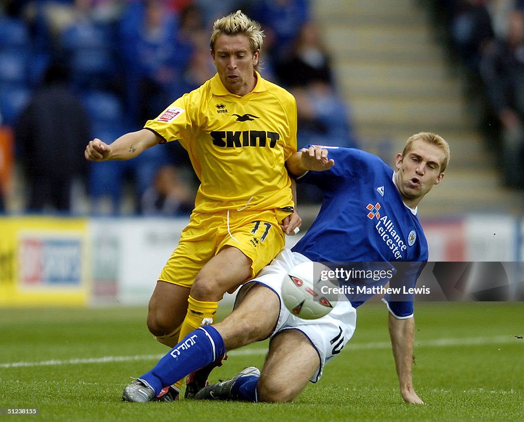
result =
M213 24L213 32L211 33L211 50L215 51L216 39L220 35L245 35L249 39L251 45L251 52L255 54L257 50L262 49L264 43L264 31L258 22L249 19L242 10L237 10L235 13L224 16L223 18L215 20ZM255 66L255 69L258 65Z

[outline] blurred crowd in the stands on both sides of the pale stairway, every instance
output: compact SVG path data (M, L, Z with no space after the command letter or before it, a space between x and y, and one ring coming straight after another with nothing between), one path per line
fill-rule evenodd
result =
M416 1L464 78L503 183L523 188L524 0ZM0 212L15 166L24 211L71 212L80 186L92 214L121 213L124 195L132 212L190 212L198 181L178 143L127 162L87 163L83 149L140 129L212 77L213 21L237 9L265 29L262 75L297 99L298 146L358 146L310 8L309 0L0 0ZM302 202L318 202L318 192L300 189Z

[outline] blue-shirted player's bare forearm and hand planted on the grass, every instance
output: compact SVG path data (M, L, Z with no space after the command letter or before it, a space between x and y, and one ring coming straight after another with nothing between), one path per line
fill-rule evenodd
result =
M413 389L411 369L413 365L414 318L399 320L389 314L389 335L397 367L400 394L407 403L424 404Z

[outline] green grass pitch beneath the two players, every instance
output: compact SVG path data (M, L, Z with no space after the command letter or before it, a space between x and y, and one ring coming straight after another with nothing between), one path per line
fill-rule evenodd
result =
M417 303L413 380L425 406L401 400L380 303L359 308L353 339L293 403L124 403L129 377L167 351L148 334L146 313L143 307L0 310L0 408L40 411L0 419L508 421L524 415L524 339L518 338L524 303ZM211 380L261 367L266 348L263 342L231 352Z

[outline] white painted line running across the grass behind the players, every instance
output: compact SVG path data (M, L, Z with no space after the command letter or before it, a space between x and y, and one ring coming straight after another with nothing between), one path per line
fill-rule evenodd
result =
M518 343L524 345L524 341L513 336L496 336L496 337L466 337L466 338L440 338L436 340L417 341L415 348L418 347L449 347L449 346L475 346L487 344L508 344ZM376 341L374 343L356 343L351 342L346 346L347 350L377 350L389 349L389 341ZM254 356L265 355L266 348L258 349L241 349L227 352L230 356ZM0 363L0 368L31 368L40 366L60 366L60 365L78 365L89 363L112 363L112 362L130 362L135 360L158 360L164 355L136 355L136 356L105 356L102 358L85 358L85 359L68 359L68 360L45 360L40 362L12 362Z

